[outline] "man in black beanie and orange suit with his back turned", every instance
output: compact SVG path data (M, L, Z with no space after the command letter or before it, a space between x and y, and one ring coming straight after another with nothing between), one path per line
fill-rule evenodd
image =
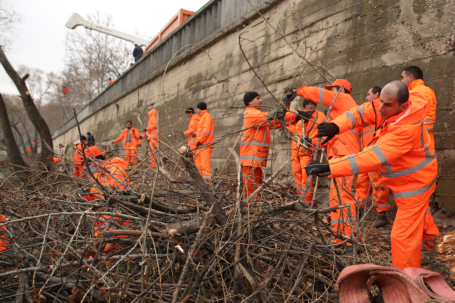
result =
M196 147L198 148L196 149L196 154L199 158L197 160L199 164L197 169L199 170L202 179L210 181L212 179L210 159L212 148L214 147L212 142L215 140L215 135L213 134L213 119L212 115L207 111L207 104L205 104L205 102L199 102L196 107L200 118L196 131ZM201 145L206 146L199 147Z

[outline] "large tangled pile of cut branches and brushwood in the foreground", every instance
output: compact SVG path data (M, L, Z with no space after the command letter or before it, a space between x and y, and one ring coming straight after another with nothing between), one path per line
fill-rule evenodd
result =
M334 302L341 270L368 263L331 241L328 215L343 206L311 209L273 187L280 199L251 204L241 169L230 186L204 183L186 149L174 164L179 174L143 165L128 191L85 179L95 200L65 172L30 170L33 190L4 178L2 302Z

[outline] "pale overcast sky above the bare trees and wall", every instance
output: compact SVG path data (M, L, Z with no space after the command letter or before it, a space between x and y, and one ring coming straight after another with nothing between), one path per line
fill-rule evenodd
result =
M61 71L65 59L65 37L70 31L65 25L73 13L86 18L100 12L112 15L117 30L135 32L143 38L154 37L177 14L185 9L196 12L208 0L12 0L15 11L22 16L17 25L17 37L6 53L14 67L27 65L46 72ZM83 30L82 26L77 29ZM131 43L131 51L134 46ZM17 94L14 84L0 65L0 92Z

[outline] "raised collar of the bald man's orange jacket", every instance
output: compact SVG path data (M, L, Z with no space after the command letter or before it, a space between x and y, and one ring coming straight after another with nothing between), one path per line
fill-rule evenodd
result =
M379 98L375 99L373 102L376 110L378 110L380 105ZM385 122L392 125L415 124L423 121L431 109L431 104L428 100L428 97L425 94L415 90L409 92L408 104L408 109L397 114L396 116L387 119ZM380 118L378 117L378 119Z

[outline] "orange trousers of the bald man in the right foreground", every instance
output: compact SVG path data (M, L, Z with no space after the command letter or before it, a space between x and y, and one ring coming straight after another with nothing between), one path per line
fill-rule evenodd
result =
M390 234L392 264L397 268L420 267L422 246L430 250L439 235L430 211L430 196L434 183L423 194L406 197L406 193L394 193L398 210ZM401 198L399 198L401 197Z

